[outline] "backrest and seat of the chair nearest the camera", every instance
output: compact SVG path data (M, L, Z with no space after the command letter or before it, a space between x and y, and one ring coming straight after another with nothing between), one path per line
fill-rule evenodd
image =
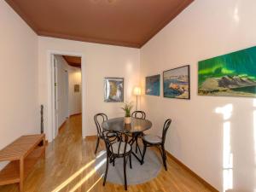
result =
M113 137L113 133L116 137ZM116 157L122 157L125 154L129 136L125 132L103 131L104 142L108 156L114 154Z

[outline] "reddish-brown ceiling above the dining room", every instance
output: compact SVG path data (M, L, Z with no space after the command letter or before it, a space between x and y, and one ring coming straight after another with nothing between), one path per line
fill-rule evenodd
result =
M40 36L140 48L194 0L6 0Z

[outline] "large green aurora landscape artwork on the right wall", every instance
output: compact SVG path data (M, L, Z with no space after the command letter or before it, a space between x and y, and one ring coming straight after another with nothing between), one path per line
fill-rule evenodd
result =
M256 46L198 62L198 95L256 96Z

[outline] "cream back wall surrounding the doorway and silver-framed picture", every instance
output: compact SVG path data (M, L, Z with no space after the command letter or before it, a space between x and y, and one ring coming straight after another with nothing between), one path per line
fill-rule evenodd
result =
M49 51L74 53L82 55L82 95L83 95L83 129L84 136L95 135L96 127L93 116L104 112L109 117L122 116L119 109L120 103L104 102L104 77L125 78L125 100L134 99L132 88L139 81L139 49L118 47L103 44L90 44L70 41L59 38L39 37L38 42L38 81L39 102L46 108L44 116L45 125L48 127L47 137L51 138L50 119L48 120L48 81ZM70 55L70 54L67 54Z

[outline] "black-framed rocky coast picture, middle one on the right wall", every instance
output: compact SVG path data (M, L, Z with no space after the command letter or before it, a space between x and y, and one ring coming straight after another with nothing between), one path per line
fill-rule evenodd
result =
M164 97L190 99L189 65L163 73Z

